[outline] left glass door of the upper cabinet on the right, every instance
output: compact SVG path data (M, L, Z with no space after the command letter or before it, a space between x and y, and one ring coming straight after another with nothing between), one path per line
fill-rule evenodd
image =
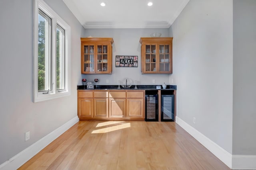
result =
M146 45L145 71L156 72L156 45Z

